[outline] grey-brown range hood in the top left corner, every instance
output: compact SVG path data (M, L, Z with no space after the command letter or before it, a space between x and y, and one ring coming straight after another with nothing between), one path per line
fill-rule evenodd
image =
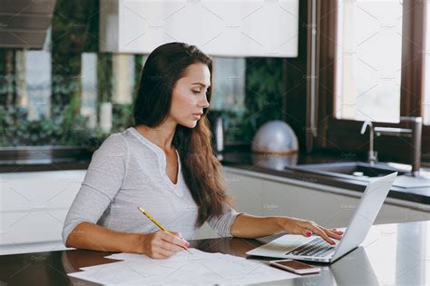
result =
M55 0L1 0L0 47L41 49Z

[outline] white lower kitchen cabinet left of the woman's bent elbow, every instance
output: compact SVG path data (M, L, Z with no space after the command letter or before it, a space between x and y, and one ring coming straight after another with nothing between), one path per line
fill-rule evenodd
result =
M64 219L85 173L2 173L0 254L65 249Z

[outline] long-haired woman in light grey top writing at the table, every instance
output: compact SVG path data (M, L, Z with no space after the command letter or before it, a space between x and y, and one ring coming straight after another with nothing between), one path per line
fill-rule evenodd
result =
M212 61L196 46L162 44L148 57L134 104L134 127L112 133L93 158L64 222L67 247L168 258L204 223L220 236L342 232L289 217L257 217L230 207L210 144L206 113ZM171 233L158 230L142 206Z

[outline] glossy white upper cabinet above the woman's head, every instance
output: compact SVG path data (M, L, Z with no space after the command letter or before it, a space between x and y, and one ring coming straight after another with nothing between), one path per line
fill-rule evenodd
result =
M185 42L219 56L298 55L298 0L100 0L100 11L102 52Z

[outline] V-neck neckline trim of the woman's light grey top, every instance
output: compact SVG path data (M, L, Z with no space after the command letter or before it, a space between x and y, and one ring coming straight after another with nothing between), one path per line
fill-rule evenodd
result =
M180 185L180 180L181 180L181 158L176 147L175 147L175 152L176 152L176 158L178 160L178 173L176 174L177 175L176 183L173 183L171 182L171 178L166 173L166 168L167 168L166 153L164 153L164 151L161 149L159 145L157 145L156 143L152 143L151 140L149 140L142 133L137 131L136 128L130 127L130 129L132 130L132 133L135 133L136 135L138 135L138 138L140 138L142 142L145 143L145 145L147 145L154 153L157 154L157 157L159 159L161 177L165 182L171 185L171 187L174 190L176 190L176 187Z

